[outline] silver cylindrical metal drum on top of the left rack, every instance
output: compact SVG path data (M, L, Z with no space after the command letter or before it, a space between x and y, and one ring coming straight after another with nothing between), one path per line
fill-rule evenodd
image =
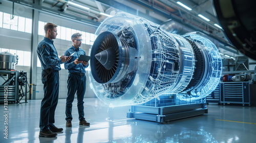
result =
M0 70L15 70L18 56L10 52L0 52Z

